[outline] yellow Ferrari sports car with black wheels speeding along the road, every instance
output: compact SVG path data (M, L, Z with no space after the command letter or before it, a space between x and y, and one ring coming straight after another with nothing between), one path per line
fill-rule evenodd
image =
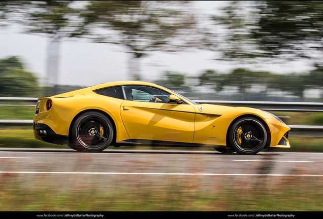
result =
M213 147L252 155L290 148L290 128L278 117L249 107L198 104L156 84L111 82L38 97L34 135L81 152L109 145Z

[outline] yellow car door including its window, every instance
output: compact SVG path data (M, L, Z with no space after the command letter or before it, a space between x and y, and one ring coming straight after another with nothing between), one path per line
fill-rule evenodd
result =
M192 143L195 108L170 103L170 93L151 86L123 86L121 118L131 139Z

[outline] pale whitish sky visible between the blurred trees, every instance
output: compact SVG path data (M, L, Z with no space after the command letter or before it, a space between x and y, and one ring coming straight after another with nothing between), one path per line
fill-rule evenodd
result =
M194 4L203 16L218 13L227 1L196 1ZM18 56L25 68L33 72L40 82L46 77L46 49L48 38L37 34L22 34L10 28L0 29L0 59ZM68 40L60 45L58 84L92 86L105 82L129 80L129 53L111 44L90 43L85 40ZM176 71L187 76L197 76L203 70L229 72L236 65L216 61L215 52L151 52L142 58L142 81L155 81L165 71ZM240 66L239 66L240 67ZM263 70L277 73L301 72L312 69L306 62L288 62L283 65L263 65Z

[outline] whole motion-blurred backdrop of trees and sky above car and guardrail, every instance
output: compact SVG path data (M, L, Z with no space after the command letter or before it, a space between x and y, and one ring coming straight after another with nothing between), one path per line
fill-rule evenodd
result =
M0 96L155 82L193 99L322 97L321 1L1 1Z

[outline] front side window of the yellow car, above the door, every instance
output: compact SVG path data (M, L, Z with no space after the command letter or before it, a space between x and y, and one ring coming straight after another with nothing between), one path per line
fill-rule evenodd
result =
M129 85L123 87L126 100L168 103L170 94L158 88Z

